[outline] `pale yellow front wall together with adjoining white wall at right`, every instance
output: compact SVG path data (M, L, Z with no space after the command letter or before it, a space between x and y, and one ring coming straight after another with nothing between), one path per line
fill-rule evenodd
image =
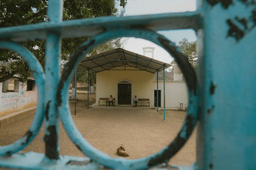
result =
M97 73L96 79L96 104L99 98L108 98L112 95L118 104L118 82L123 80L132 84L132 100L135 95L138 98L150 100L150 106L154 106L154 90L157 90L157 82L154 81L154 74L147 71L130 70L106 70ZM161 90L161 107L163 107L163 82L158 82L158 89ZM186 83L165 82L165 106L166 108L177 109L183 103L183 109L187 107L188 95Z

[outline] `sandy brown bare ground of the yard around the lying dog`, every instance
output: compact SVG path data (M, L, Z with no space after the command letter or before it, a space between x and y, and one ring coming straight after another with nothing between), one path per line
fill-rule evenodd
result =
M95 102L95 94L89 95L90 103ZM130 154L127 159L136 159L158 152L169 144L176 136L183 123L185 112L166 111L166 120L163 120L163 111L149 108L116 107L90 108L87 106L87 95L78 94L77 116L73 116L80 133L98 150L113 157L117 148L123 144ZM70 109L74 115L74 101L70 102ZM0 129L0 145L9 144L28 130L34 116ZM23 151L44 153L43 130ZM62 124L59 129L60 154L84 156L66 135ZM169 161L176 165L190 165L196 160L196 130L185 146Z

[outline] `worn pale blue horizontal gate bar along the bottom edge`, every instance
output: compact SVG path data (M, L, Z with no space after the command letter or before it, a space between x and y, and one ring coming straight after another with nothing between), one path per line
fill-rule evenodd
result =
M33 161L31 161L33 160ZM59 156L58 160L45 158L43 153L18 153L0 159L1 167L26 170L110 170L88 157ZM192 166L173 166L165 163L148 170L194 170Z

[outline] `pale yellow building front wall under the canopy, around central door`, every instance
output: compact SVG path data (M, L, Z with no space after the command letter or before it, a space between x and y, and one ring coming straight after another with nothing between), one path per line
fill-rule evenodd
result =
M106 70L96 76L96 103L99 98L108 98L112 95L118 103L118 82L126 80L132 84L132 99L149 99L153 106L152 89L154 88L154 74L147 71ZM133 103L132 103L133 104Z

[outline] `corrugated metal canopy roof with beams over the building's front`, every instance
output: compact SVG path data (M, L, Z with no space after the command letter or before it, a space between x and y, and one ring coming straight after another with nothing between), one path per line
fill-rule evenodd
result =
M85 57L81 61L80 66L90 69L90 71L93 72L113 70L117 67L125 66L125 70L132 67L138 70L155 73L157 70L163 70L163 66L164 68L169 68L171 65L132 51L118 48Z

